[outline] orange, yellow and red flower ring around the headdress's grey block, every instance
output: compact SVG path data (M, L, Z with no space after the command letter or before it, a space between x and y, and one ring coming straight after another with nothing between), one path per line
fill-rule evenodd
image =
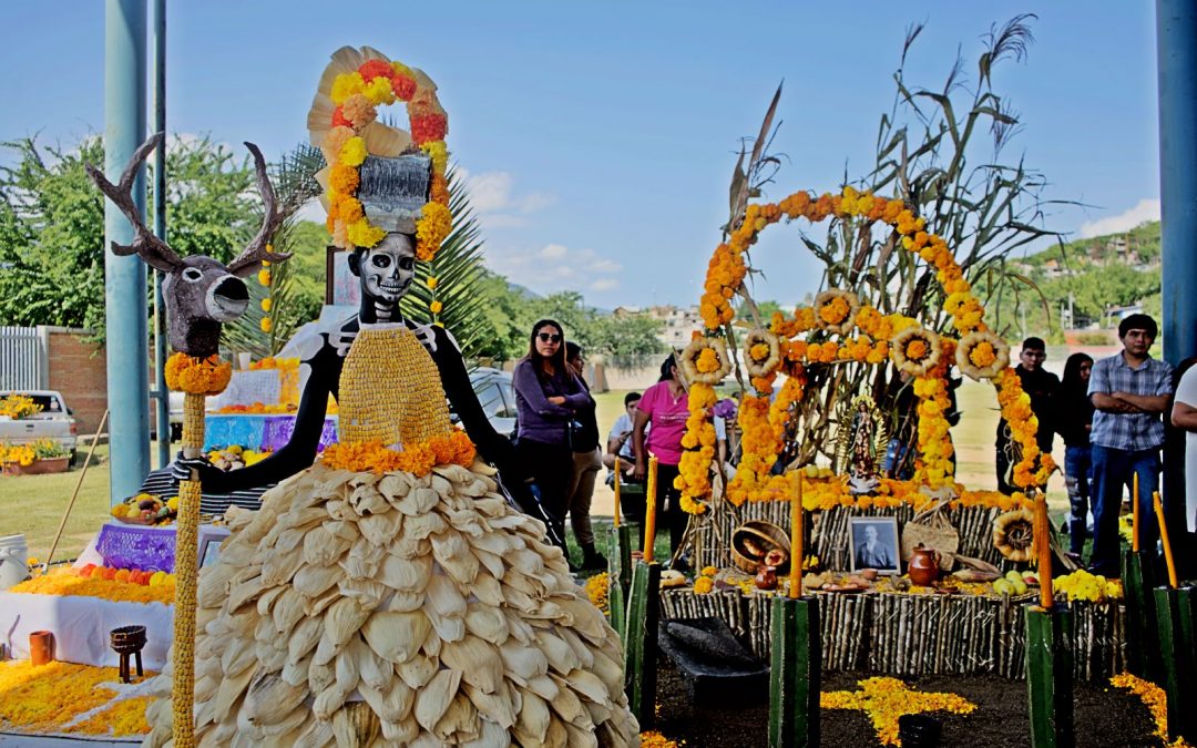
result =
M396 101L407 105L409 141L406 133L377 122L377 108ZM308 123L312 145L329 164L327 225L341 249L373 247L387 235L370 223L356 197L358 166L366 156L399 156L414 146L432 159L430 200L415 223L417 257L432 260L452 227L445 180L449 120L436 84L423 71L393 62L375 49L345 47L321 78Z

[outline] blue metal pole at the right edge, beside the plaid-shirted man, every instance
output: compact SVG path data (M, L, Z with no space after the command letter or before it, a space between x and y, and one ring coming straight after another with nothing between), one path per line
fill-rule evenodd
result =
M1197 4L1156 0L1163 357L1197 354Z

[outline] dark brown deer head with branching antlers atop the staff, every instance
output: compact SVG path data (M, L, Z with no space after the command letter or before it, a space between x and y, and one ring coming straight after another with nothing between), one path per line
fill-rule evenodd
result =
M236 260L223 264L202 255L180 257L165 242L156 237L142 223L133 203L133 181L136 178L138 169L158 147L162 139L163 133L158 133L141 144L117 184L109 182L91 165L87 166L87 174L99 190L108 195L129 219L136 232L132 244L122 245L113 242L113 254L138 255L150 267L166 273L163 296L166 299L166 315L170 321L170 346L188 355L207 358L215 354L220 346L220 326L239 317L249 305L249 291L241 279L256 273L263 261L281 262L291 255L267 250L271 237L282 223L282 217L275 206L274 188L266 176L266 160L262 158L262 152L251 142L247 142L245 147L254 156L265 218L257 236ZM158 168L163 165L159 164Z

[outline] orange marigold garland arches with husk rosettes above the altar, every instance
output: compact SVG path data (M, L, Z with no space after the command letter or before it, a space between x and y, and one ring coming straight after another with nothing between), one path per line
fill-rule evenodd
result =
M812 306L795 310L792 317L774 314L768 329L753 329L745 341L745 371L753 393L746 393L740 407L742 451L737 473L727 486L725 498L739 506L746 500L789 499L790 481L773 475L773 464L782 451L783 437L792 416L792 406L806 394L810 366L838 363L882 364L886 359L915 377L918 399L918 456L912 481L882 480L874 497L855 499L838 486L815 484L803 494L807 509L827 509L836 504L897 505L932 500L919 487L934 491L948 488L958 505L990 504L1009 509L1029 505L1027 491L1046 482L1056 469L1051 455L1041 454L1035 443L1039 421L1031 409L1031 399L1022 391L1017 375L1009 366L1009 346L985 324L985 309L972 293L964 269L956 263L943 238L925 230L923 218L901 200L882 199L845 187L839 194L814 196L797 191L776 203L752 203L743 220L727 241L715 248L706 272L699 305L705 332L682 354L682 367L689 387L689 418L675 486L681 489L681 505L687 512L707 511L711 495L710 469L715 456L715 427L707 418L715 405L715 385L736 366L727 343L719 337L730 333L735 320L731 300L747 297L746 255L759 235L782 219L804 219L818 224L827 218L857 219L868 224L883 223L895 233L898 244L917 254L936 270L936 280L946 294L944 311L959 337L936 334L916 320L898 314L882 315L871 305L862 305L851 291L831 288L821 292ZM827 340L807 340L821 332ZM1013 497L995 492L961 491L954 480L952 442L944 412L949 407L947 372L952 364L974 379L989 379L997 390L1002 416L1010 424L1013 439L1021 450L1014 467L1014 485L1022 491ZM779 373L786 375L773 402L770 395ZM826 475L826 472L809 470Z

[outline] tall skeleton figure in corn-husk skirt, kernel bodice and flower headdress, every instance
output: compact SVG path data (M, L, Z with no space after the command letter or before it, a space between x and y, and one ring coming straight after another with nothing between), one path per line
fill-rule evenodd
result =
M382 89L379 105L408 102L419 142L375 118L366 95ZM448 231L432 220L448 213L436 85L377 50L342 48L309 128L330 164L318 180L333 243L352 251L360 308L304 353L286 446L227 474L182 461L205 491L281 481L259 511L230 519L219 560L201 573L196 741L638 743L619 638L545 525L497 482L488 462L510 485L522 473L456 342L400 312L417 262ZM329 395L340 440L317 458ZM171 740L169 685L168 668L148 746Z

